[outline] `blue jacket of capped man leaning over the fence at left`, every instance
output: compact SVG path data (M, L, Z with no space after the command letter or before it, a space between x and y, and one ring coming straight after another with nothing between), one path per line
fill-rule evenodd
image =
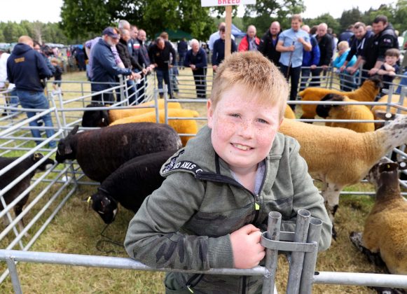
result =
M102 38L92 48L92 82L116 83L116 76L130 76L131 69L122 69L117 66L110 46ZM112 85L99 85L100 90ZM96 89L96 88L95 88Z

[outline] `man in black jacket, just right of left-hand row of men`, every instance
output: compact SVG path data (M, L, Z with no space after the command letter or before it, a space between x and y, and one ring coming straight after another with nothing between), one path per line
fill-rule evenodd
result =
M170 62L170 55L172 55L172 61ZM150 49L151 63L156 69L158 89L163 90L163 80L168 87L168 95L172 99L172 87L170 83L170 69L175 65L176 55L175 50L169 41L165 41L163 38L158 37L156 43L151 46ZM163 93L160 93L160 97L163 97Z

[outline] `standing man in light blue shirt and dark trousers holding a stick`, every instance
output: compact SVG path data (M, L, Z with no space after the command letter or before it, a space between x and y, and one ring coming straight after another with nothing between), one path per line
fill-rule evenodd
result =
M303 64L303 50L312 50L310 36L301 29L303 20L301 15L294 14L291 17L291 29L283 31L277 42L276 50L281 52L280 71L289 80L291 76L290 100L295 101L300 80L301 65ZM291 104L293 111L295 104Z

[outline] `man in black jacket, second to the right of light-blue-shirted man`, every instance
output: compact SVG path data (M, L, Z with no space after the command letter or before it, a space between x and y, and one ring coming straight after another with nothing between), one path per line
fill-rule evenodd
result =
M319 87L321 85L321 77L320 74L324 71L323 75L326 75L326 70L329 68L329 64L331 64L331 59L333 56L332 50L332 37L329 34L326 34L328 30L328 25L326 23L322 23L318 25L317 29L317 41L319 46L319 52L321 52L321 56L319 57L319 64L317 69L312 69L312 80L311 84L312 87Z

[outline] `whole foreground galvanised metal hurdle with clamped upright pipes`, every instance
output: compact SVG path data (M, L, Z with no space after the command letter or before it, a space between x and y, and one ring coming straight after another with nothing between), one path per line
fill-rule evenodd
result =
M268 230L263 232L261 244L266 249L265 267L252 269L209 269L207 271L182 270L148 267L130 258L102 257L95 255L77 255L66 253L25 252L0 250L0 260L7 263L11 274L13 289L16 294L22 293L15 262L48 263L54 265L71 265L84 267L106 267L114 269L137 269L160 272L189 272L200 274L229 274L244 276L263 276L262 293L275 291L275 272L277 253L291 252L287 293L312 293L313 283L335 283L359 286L390 286L407 288L407 276L390 274L359 274L346 272L314 272L317 261L318 241L322 230L322 221L312 218L305 209L298 211L295 232L280 232L281 214L270 212Z

